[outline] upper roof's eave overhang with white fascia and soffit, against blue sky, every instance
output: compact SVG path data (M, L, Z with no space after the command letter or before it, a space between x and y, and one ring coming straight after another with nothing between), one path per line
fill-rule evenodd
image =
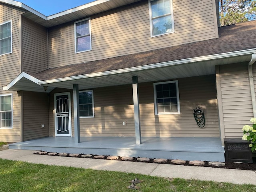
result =
M0 0L0 2L2 3L27 10L28 12L22 14L22 16L47 28L71 22L74 20L79 20L81 18L86 18L88 16L98 14L100 12L108 11L138 1L140 0L95 0L93 2L57 14L45 16L44 14L30 8L29 6L21 2L17 2L14 0Z

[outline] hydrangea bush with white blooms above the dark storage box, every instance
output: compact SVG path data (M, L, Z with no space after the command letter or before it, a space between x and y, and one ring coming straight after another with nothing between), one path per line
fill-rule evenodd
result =
M252 127L249 125L245 125L242 130L244 131L244 135L242 140L247 140L250 144L252 152L256 149L256 118L251 118L251 123L253 123Z

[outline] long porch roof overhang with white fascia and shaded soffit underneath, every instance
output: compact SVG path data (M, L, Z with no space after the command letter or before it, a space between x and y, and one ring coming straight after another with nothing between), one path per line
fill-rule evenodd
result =
M251 60L253 53L256 53L256 48L92 74L43 80L38 82L38 84L42 86L69 89L73 88L73 84L79 84L79 89L82 90L131 84L132 76L138 76L139 83L143 83L190 76L210 75L215 74L216 65L248 62Z

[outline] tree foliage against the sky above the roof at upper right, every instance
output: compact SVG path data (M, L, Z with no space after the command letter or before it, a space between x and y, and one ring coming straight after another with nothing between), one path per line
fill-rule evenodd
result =
M256 0L219 0L220 26L256 19Z

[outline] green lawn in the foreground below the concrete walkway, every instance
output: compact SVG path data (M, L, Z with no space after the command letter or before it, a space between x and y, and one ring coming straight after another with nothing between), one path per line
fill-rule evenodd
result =
M141 174L48 166L0 159L0 192L255 192L254 185L165 179ZM139 190L127 189L139 178Z

